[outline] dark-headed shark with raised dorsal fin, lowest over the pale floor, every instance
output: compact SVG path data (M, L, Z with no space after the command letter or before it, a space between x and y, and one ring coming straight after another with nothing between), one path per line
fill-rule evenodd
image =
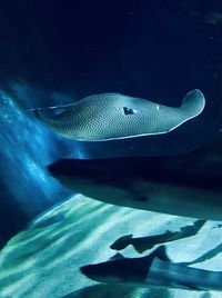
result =
M142 258L123 258L80 268L99 282L186 290L222 290L222 272L213 272L172 262L161 246Z

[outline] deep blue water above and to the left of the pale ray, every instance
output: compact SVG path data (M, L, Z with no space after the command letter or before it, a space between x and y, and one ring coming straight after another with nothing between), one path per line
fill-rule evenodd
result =
M122 92L221 113L221 1L0 3L0 246L70 192L46 170L74 150L27 109ZM162 101L161 101L162 100Z

